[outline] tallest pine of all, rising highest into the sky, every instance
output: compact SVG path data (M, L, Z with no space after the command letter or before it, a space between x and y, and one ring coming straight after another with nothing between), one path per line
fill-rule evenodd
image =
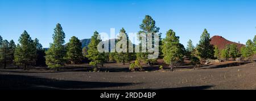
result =
M155 47L154 46L154 35L155 34L158 34L158 36L159 36L159 43L160 43L159 45L162 44L162 41L161 41L161 38L160 38L161 33L158 33L160 28L155 26L155 20L153 20L151 16L146 15L145 18L142 21L142 24L139 25L139 27L141 28L141 31L139 31L139 34L146 33L146 35L147 35L148 33L152 33L152 46L153 46L153 48ZM146 41L148 41L147 36L146 36ZM142 46L141 41L140 41L139 45L140 45L140 49L141 49L141 46ZM147 42L146 42L146 46L148 47ZM162 47L160 46L159 51L161 51L161 49L162 49ZM143 60L144 62L146 62L148 64L151 64L151 62L155 63L157 61L157 59L148 59L148 54L149 53L148 53L147 50L146 50L146 52L139 52L139 53L137 53L137 59L138 60Z

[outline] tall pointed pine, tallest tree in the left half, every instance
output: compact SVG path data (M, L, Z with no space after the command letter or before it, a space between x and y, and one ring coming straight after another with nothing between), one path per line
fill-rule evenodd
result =
M50 43L50 47L46 51L46 64L49 68L54 68L59 71L59 68L63 67L65 63L65 33L63 32L63 29L59 23L54 29L54 34L52 35L52 38L53 43Z

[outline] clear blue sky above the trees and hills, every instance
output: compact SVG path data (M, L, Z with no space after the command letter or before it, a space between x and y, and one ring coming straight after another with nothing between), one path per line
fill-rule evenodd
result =
M17 43L27 30L48 47L57 23L68 42L72 36L90 38L95 30L138 32L145 15L153 17L163 37L173 29L184 46L188 39L196 45L204 28L210 36L241 43L256 34L255 0L0 0L0 35Z

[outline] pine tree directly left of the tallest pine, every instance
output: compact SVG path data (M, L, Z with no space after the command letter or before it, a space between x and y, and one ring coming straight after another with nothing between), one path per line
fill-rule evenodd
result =
M127 39L127 42L126 42L126 45L127 45L127 47L122 47L122 45L121 45L121 49L122 48L126 48L127 50L125 51L125 52L116 52L115 53L115 55L114 55L114 59L117 61L117 62L119 62L119 63L123 63L123 65L125 65L125 63L126 62L130 62L130 56L129 56L129 37L127 36L127 34L126 34L126 31L125 31L125 29L124 28L122 28L121 30L120 30L120 34L119 34L119 36L118 36L118 40L117 40L117 42L119 42L119 41L121 41L122 40L122 37L121 37L121 33L123 33L123 34L125 34L125 36L126 36L126 39Z

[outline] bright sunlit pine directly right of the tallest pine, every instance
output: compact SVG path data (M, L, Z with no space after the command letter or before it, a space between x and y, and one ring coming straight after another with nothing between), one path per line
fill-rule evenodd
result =
M163 39L164 62L174 71L174 65L183 57L183 49L179 43L179 37L175 36L173 30L168 30L166 38Z

